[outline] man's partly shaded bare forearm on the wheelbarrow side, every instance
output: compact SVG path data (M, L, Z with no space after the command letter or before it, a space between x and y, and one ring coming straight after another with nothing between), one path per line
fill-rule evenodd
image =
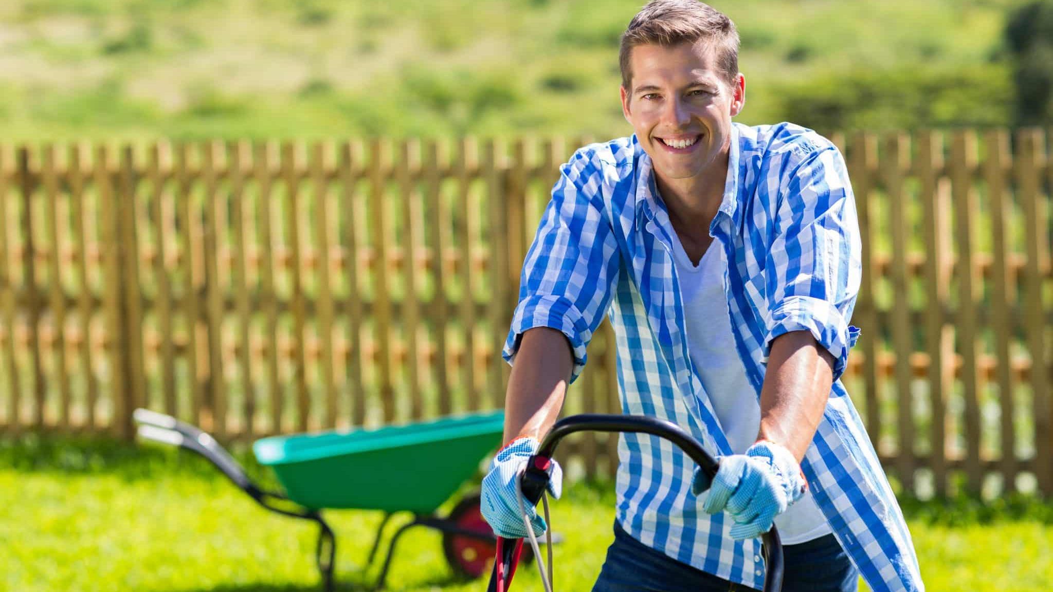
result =
M504 399L504 441L541 439L559 417L574 355L567 337L549 328L523 333Z

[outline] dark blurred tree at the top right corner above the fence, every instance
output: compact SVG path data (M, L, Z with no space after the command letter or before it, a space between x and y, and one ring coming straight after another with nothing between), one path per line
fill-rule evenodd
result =
M1006 40L1016 58L1016 122L1053 123L1053 0L1017 8L1006 25Z

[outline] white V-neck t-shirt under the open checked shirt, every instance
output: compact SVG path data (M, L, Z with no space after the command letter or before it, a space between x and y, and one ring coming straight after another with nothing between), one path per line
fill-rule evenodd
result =
M671 234L674 237L676 276L687 316L688 351L732 451L742 454L757 439L760 403L746 376L731 333L728 297L723 288L728 258L720 242L713 239L695 267L679 237L675 232ZM811 491L776 516L775 526L783 545L806 542L832 532Z

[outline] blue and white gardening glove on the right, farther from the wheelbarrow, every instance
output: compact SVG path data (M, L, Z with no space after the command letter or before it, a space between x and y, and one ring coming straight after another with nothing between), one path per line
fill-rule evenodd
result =
M710 514L727 511L735 520L731 537L742 540L771 530L775 516L804 495L808 482L793 453L775 442L761 440L746 454L721 458L712 484L696 469L692 493L698 495L707 489L710 495L702 510Z

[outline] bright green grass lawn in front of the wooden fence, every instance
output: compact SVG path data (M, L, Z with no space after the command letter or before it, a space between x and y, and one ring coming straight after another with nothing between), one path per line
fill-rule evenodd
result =
M240 456L244 459L244 455ZM264 481L265 471L249 463ZM1046 591L1053 581L1053 507L1031 501L906 506L932 591ZM331 512L340 590L364 590L360 566L381 516ZM555 585L588 590L612 539L613 492L571 484L553 504L564 541ZM203 459L113 443L0 442L0 589L224 592L318 589L313 525L255 506ZM372 575L372 574L371 574ZM533 566L517 590L541 590ZM453 578L440 536L400 544L389 577L400 591L483 590Z

